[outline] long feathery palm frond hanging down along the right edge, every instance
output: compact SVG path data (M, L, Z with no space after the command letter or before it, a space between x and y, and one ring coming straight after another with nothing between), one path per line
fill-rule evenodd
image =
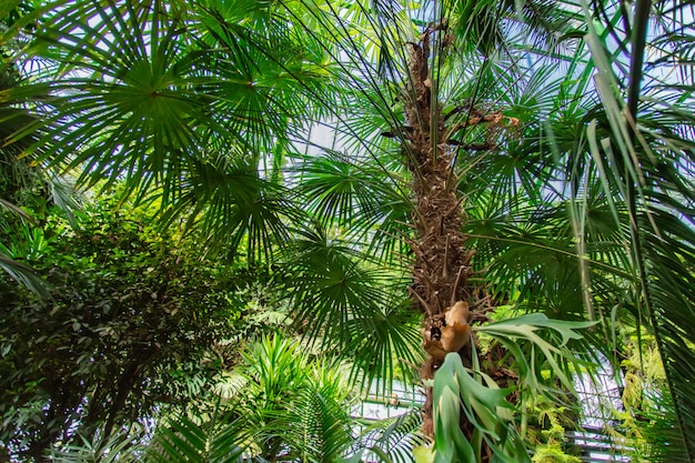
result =
M671 59L679 57L672 38L692 36L683 14L692 7L671 3L672 11L662 16L664 6L656 11L648 2L637 8L633 23L615 6L598 10L598 14L615 17L624 29L614 27L611 33L627 58L623 62L612 53L597 31L590 27L587 39L598 69L597 89L606 114L605 125L594 124L603 131L590 133L592 157L605 177L606 194L618 192L626 204L624 233L627 242L631 270L631 292L634 316L653 330L664 359L668 385L676 404L677 423L682 439L673 441L674 447L695 459L692 435L692 386L683 365L695 361L692 335L678 326L695 323L691 279L693 268L692 189L689 171L693 163L692 121L673 120L684 104L692 104L692 91L678 79L669 77ZM649 21L656 13L656 22ZM672 14L675 13L675 14ZM677 41L677 39L676 39ZM645 53L647 43L664 48ZM631 47L627 47L629 43ZM628 51L629 50L629 51ZM687 53L687 47L684 48ZM663 57L669 57L663 60ZM689 66L683 71L688 72ZM628 78L627 88L617 82L620 76ZM673 73L671 73L673 76ZM655 121L658 123L655 124ZM644 123L642 122L644 121ZM689 391L689 392L687 392Z

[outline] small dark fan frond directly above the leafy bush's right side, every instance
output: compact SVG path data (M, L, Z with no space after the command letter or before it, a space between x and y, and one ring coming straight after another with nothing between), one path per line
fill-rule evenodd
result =
M164 227L180 222L185 231L204 236L204 249L249 263L269 261L274 246L290 238L288 227L303 213L278 182L262 178L253 163L198 160L182 172L181 190L173 198L155 190L147 201L162 204Z

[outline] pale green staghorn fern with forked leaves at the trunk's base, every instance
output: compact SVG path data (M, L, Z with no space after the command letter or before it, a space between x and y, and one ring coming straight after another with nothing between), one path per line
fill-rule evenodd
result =
M575 330L587 328L592 323L561 322L548 320L535 313L503 320L477 328L481 334L487 334L507 348L518 371L517 390L523 402L528 397L548 397L550 386L542 381L541 365L550 364L550 373L556 375L557 383L565 390L573 386L558 361L576 362L563 348L571 339L580 339ZM548 331L548 340L538 335L538 331ZM525 344L531 349L524 352ZM514 423L514 410L508 396L514 387L502 389L473 358L473 368L464 368L461 358L447 354L437 370L434 381L433 419L436 432L431 453L423 452L421 461L434 462L530 462ZM577 371L574 369L573 371ZM461 404L461 406L457 406ZM461 411L470 429L460 429ZM522 426L524 431L525 426ZM483 442L485 443L483 445ZM485 455L483 452L488 452ZM424 455L427 455L426 457Z

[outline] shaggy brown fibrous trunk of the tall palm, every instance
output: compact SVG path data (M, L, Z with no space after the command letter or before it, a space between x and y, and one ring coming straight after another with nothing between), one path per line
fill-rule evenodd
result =
M404 147L413 174L416 239L411 243L415 262L411 296L424 312L423 345L427 360L423 379L432 379L449 352L459 352L471 366L470 331L475 314L477 292L469 282L473 251L465 246L462 232L465 220L457 194L459 178L453 169L453 150L445 139L446 127L441 105L432 101L436 85L429 70L430 40L442 24L431 26L419 43L409 43L411 84L405 108L407 144ZM435 89L436 90L436 89ZM465 415L463 415L465 419ZM432 389L423 407L424 432L433 434ZM471 423L461 423L464 435L472 437Z

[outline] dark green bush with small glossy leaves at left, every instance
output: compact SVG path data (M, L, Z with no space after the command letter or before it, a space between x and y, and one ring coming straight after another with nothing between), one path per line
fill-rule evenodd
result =
M82 211L74 230L54 215L24 230L12 252L50 296L2 281L3 442L38 456L201 394L221 368L210 348L243 309L222 268L109 203Z

